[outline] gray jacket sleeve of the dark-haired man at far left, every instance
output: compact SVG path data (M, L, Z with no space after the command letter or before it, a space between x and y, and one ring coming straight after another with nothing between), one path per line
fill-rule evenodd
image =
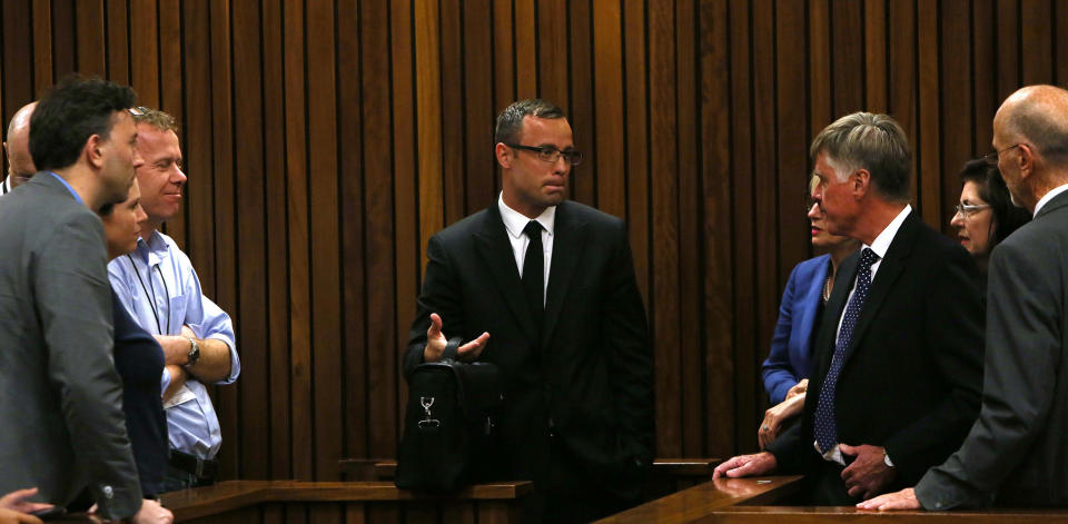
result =
M100 514L126 518L140 508L141 490L112 359L103 228L92 215L77 214L42 245L31 278L49 378Z

